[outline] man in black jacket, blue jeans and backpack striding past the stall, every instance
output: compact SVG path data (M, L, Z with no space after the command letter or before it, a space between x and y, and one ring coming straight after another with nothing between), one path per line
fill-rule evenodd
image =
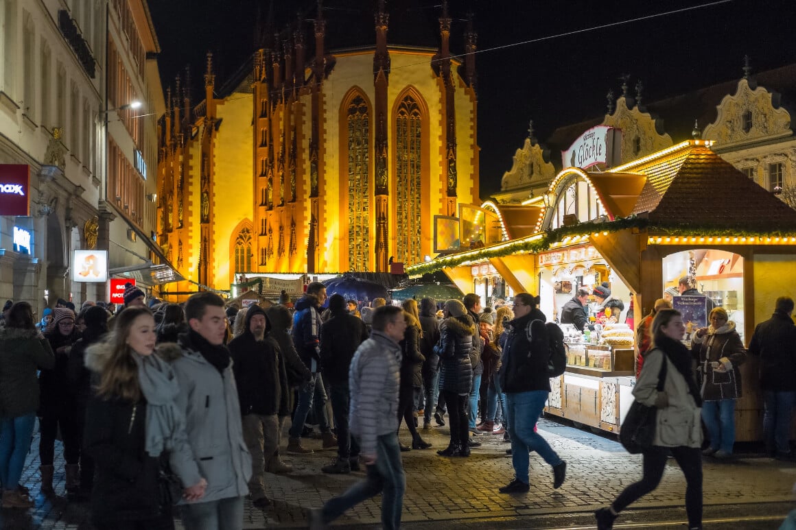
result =
M567 462L561 460L533 427L537 424L550 393L547 375L549 350L544 329L544 314L537 309L539 298L528 293L514 297L514 320L505 329L500 383L505 392L511 435L511 463L514 480L500 493L525 493L529 490L529 450L535 450L552 466L553 488L560 488L567 475ZM531 333L528 326L533 322ZM539 340L529 337L538 337Z

